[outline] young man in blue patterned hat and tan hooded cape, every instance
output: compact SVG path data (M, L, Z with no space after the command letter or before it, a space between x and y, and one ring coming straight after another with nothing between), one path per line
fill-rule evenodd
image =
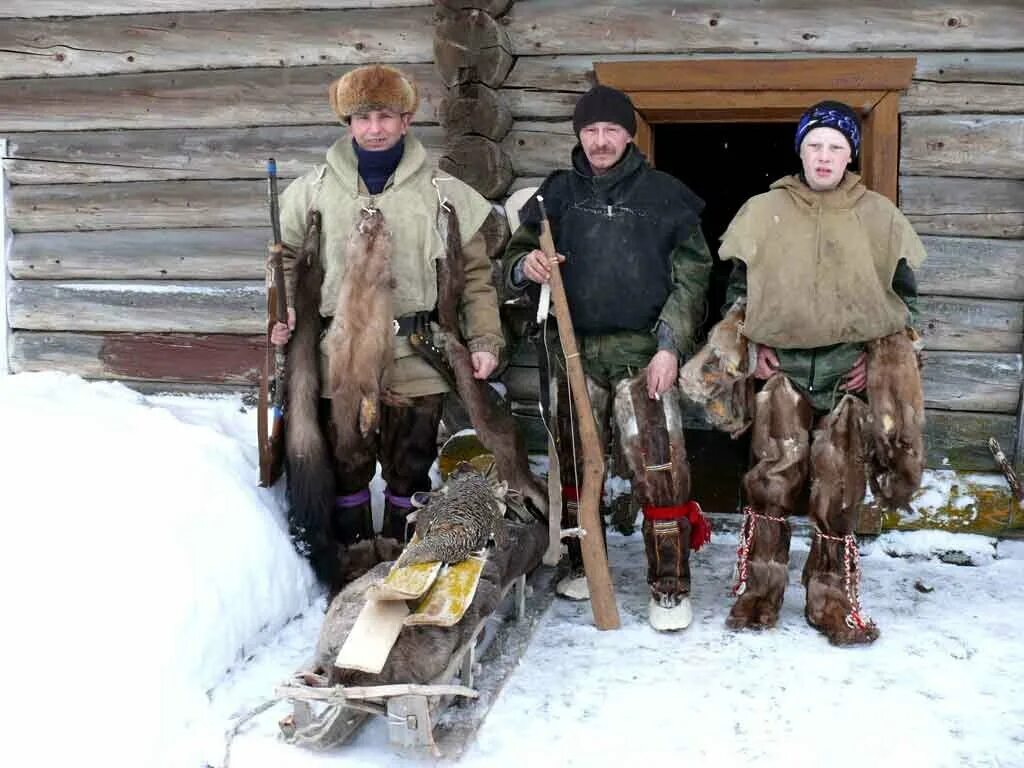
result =
M859 148L860 125L849 106L810 108L796 136L802 172L748 201L719 249L723 259L735 259L726 306L736 310L734 302L745 301L740 329L750 367L767 380L755 401L756 463L743 478L750 506L727 624L775 625L787 581L787 516L810 475L805 612L843 645L879 636L858 599L853 530L863 465L876 498L902 506L924 461L910 328L912 268L925 249L896 206L848 170Z

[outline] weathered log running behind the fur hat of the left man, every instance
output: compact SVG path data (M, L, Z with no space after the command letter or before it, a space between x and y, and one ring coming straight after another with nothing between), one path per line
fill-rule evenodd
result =
M350 66L251 68L0 81L0 133L117 128L338 125L328 85ZM444 87L433 65L402 67L416 80L414 120L435 123Z

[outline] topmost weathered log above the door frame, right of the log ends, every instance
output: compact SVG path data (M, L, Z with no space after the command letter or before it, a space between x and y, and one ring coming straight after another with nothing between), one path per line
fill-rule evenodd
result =
M528 0L509 12L516 55L689 51L1017 50L1022 14L1000 0L936 5L787 0Z

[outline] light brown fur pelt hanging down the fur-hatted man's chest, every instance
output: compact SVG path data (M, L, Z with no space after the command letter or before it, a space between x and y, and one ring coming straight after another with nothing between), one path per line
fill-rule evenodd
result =
M394 366L391 238L380 211L364 211L345 254L345 273L327 335L334 449L349 463L380 423Z

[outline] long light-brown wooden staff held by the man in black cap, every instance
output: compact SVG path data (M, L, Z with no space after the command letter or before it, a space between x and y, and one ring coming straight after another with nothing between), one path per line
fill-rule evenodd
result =
M558 338L565 353L565 368L568 371L569 388L577 410L580 429L580 443L583 447L583 489L580 493L580 523L586 536L580 540L583 550L583 567L590 588L590 604L594 610L594 624L599 630L617 630L620 627L618 606L611 590L611 573L608 572L608 558L604 552L604 537L601 536L601 518L598 504L604 487L604 452L597 436L597 422L590 407L587 380L580 361L580 350L572 330L568 302L562 273L555 256L555 244L551 239L551 223L544 210L544 198L538 197L541 208L541 250L551 265L551 303L558 321Z

